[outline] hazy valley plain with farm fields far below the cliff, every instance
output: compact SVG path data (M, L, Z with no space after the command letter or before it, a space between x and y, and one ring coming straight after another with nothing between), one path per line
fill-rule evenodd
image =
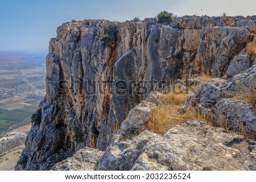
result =
M45 95L45 57L43 53L0 52L0 170L13 170L32 113Z

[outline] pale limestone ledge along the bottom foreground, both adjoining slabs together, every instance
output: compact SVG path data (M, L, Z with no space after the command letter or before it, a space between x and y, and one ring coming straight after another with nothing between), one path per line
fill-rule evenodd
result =
M255 157L256 142L188 121L164 136L145 130L113 137L94 170L256 170Z

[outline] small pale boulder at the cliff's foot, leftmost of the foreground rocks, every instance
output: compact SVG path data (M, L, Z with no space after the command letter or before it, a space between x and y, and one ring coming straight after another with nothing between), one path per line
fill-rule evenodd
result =
M53 171L93 171L102 151L85 147L72 157L62 160L51 168Z

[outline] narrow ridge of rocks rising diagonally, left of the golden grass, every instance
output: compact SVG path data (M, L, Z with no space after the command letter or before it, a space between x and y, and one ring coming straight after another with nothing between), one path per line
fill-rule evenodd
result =
M159 95L158 92L151 92L146 100L130 110L117 135L101 156L96 170L131 170L146 143L158 136L143 130L147 128L152 111L160 104Z

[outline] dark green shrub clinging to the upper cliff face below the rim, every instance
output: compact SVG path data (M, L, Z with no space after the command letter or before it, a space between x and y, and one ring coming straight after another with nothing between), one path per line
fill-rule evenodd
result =
M118 28L114 23L110 23L104 27L104 37L101 39L102 45L113 48L117 41Z

